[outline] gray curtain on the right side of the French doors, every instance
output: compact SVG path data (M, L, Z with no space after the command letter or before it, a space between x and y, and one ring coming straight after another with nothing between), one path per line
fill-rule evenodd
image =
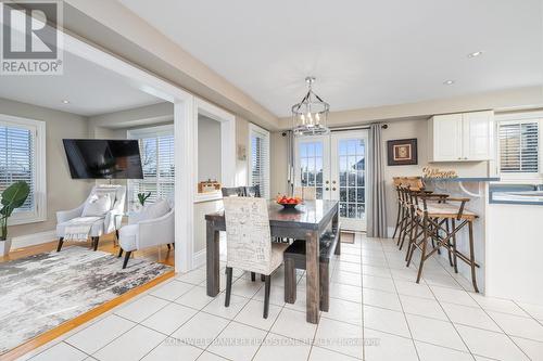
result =
M381 125L372 124L369 127L366 175L367 235L370 237L387 237L384 162Z

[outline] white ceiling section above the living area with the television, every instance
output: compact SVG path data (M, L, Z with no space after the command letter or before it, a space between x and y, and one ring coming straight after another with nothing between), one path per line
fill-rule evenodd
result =
M59 76L1 76L0 98L84 116L163 102L113 72L67 52L63 64L64 74Z

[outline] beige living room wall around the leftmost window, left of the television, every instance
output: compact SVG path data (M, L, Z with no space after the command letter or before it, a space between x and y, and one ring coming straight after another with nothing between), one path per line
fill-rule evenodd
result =
M93 184L88 180L74 180L62 145L64 138L87 138L87 119L71 113L0 99L0 114L46 121L47 220L10 227L10 236L51 231L56 225L58 210L81 204Z

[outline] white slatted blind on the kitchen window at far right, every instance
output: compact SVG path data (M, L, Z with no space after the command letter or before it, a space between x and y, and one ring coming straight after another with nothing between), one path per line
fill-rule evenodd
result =
M498 126L502 172L539 172L539 123L505 123Z

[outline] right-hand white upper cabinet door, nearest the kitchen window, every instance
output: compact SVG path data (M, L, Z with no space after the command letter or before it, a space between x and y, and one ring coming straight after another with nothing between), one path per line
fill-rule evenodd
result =
M463 114L464 160L489 160L493 158L493 115L492 111Z

